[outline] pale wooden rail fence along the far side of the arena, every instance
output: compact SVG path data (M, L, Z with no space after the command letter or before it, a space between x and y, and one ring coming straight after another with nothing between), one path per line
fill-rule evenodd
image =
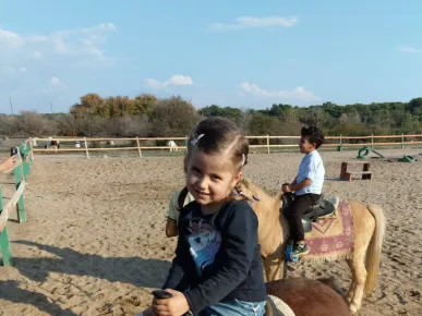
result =
M251 144L250 148L266 148L266 151L270 154L272 148L289 148L297 147L297 142L294 144L272 144L272 141L299 141L300 136L246 136L249 139L256 139L258 143L264 144ZM411 138L411 141L409 141ZM138 156L142 157L142 150L169 150L170 146L142 146L142 142L164 142L164 141L183 141L183 146L178 146L178 149L186 149L188 137L125 137L125 138L86 138L86 137L57 137L57 138L36 138L37 142L51 142L58 141L61 144L63 143L75 143L80 142L81 148L33 148L34 151L44 151L44 153L63 153L63 151L85 151L86 158L89 159L89 151L111 151L111 150L137 150ZM324 144L324 147L335 147L338 151L341 151L347 147L359 147L359 146L370 146L374 148L375 146L397 146L400 145L401 148L405 148L406 145L420 145L422 144L422 134L413 135L370 135L370 136L327 136L327 141ZM384 139L384 142L377 142ZM390 142L386 142L389 139ZM397 141L398 139L398 141ZM360 141L360 142L359 142ZM88 144L94 142L131 142L134 146L124 146L124 147L91 147Z

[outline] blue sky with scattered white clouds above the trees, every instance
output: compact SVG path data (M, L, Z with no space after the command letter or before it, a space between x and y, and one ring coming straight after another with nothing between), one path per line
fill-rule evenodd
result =
M0 112L87 93L264 109L422 96L422 1L0 0Z

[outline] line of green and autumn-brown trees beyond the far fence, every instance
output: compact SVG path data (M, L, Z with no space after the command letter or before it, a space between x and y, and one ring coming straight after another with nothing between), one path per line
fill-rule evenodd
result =
M301 126L316 125L327 135L422 134L422 98L408 102L310 107L272 105L264 110L212 105L195 107L179 96L134 98L87 94L69 113L22 111L0 114L4 136L184 136L203 118L224 117L248 135L298 135Z

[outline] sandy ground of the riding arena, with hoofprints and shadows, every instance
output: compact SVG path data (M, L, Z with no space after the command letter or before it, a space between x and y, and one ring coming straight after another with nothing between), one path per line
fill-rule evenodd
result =
M398 157L422 149L381 151ZM372 181L340 182L340 162L357 151L322 155L326 195L379 204L387 217L378 287L359 315L422 315L422 162L372 159ZM251 155L245 172L274 191L294 178L300 159ZM15 267L0 267L0 315L134 315L146 307L173 254L176 240L166 239L164 227L169 197L182 185L181 157L36 156L28 222L9 222ZM345 262L302 264L290 276L350 284Z

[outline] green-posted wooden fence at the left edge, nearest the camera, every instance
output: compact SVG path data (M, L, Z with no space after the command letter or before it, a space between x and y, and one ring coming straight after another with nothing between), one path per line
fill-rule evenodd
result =
M17 163L13 169L15 192L4 208L3 194L0 186L0 248L4 267L11 266L13 264L8 233L9 215L14 209L16 209L19 222L26 222L24 191L34 158L29 144L31 139L26 139L25 142L22 142L19 147L16 147Z

